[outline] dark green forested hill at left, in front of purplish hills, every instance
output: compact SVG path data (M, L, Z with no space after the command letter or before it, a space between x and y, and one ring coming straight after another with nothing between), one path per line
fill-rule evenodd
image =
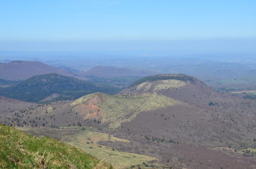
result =
M117 88L58 74L34 76L17 85L0 88L0 95L28 102L39 102L54 93L59 95L45 101L76 99L93 92L113 94L117 92Z

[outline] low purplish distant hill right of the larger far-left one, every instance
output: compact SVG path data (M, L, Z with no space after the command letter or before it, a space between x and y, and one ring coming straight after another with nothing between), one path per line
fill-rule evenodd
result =
M125 77L125 76L137 76L145 77L157 74L153 71L132 71L126 68L114 68L107 66L96 66L92 69L77 73L83 76L107 76L107 77Z

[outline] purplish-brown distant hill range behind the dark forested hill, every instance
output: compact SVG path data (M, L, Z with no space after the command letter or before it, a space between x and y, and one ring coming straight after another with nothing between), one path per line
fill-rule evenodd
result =
M60 67L59 69L54 68L38 61L12 61L10 63L0 63L0 80L2 80L2 85L11 84L11 82L8 81L22 81L33 76L51 73L74 77L80 80L88 80L86 76L146 77L159 74L154 71L133 71L126 68L106 66L96 66L86 72L78 72L78 70L73 70L68 67Z

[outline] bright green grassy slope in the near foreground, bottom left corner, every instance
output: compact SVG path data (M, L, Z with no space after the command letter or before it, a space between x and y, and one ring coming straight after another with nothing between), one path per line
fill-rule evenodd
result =
M0 125L0 168L113 168L82 150Z

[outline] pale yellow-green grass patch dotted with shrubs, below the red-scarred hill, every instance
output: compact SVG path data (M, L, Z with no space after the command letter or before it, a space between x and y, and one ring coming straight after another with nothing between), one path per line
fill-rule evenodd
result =
M100 140L109 140L114 142L121 141L128 143L130 142L129 140L120 139L105 133L83 131L71 136L64 136L61 140L65 143L79 147L99 159L104 159L105 161L111 163L115 168L128 168L131 165L137 165L142 164L143 162L147 163L150 160L156 160L155 157L117 151L113 150L112 147L101 146L97 143Z

